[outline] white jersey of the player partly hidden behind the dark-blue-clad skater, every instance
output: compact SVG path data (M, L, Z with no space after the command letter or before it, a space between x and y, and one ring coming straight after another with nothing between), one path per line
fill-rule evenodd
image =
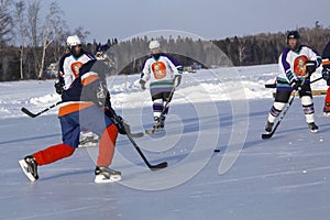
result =
M82 52L81 56L75 57L72 53L66 54L59 62L59 80L64 89L68 89L79 75L79 68L87 62L95 59L94 55Z

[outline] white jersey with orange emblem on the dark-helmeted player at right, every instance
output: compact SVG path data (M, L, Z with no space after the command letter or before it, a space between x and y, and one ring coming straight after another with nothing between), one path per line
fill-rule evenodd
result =
M292 77L306 77L306 62L316 61L317 66L321 64L321 57L319 54L308 46L302 45L301 50L296 53L289 48L285 48L278 58L279 73L278 77L286 79L287 82L292 80Z

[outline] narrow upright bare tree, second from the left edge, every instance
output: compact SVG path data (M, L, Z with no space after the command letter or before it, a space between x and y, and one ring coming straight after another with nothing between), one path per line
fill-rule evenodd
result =
M20 41L20 77L21 79L24 78L23 75L23 61L24 61L24 48L25 48L25 38L28 35L26 31L26 14L24 14L25 11L25 2L19 1L15 3L15 10L14 10L14 23L16 23L15 29L19 34L19 41Z

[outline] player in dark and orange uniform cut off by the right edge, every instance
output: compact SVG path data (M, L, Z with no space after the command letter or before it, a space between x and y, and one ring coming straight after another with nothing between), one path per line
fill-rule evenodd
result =
M327 85L329 86L326 99L324 99L324 107L323 107L323 114L324 117L330 117L330 42L326 45L323 52L322 52L322 59L328 59L328 62L324 62L322 67L322 77L327 81Z

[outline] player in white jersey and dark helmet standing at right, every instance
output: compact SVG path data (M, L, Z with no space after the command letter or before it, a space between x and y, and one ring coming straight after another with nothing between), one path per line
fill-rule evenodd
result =
M265 125L266 132L271 132L276 118L288 102L293 90L298 90L301 100L306 122L311 132L317 132L318 127L314 118L314 102L310 89L310 75L321 64L319 54L306 45L300 44L300 35L297 31L287 34L287 47L278 58L279 74L277 76L276 97L268 113Z

